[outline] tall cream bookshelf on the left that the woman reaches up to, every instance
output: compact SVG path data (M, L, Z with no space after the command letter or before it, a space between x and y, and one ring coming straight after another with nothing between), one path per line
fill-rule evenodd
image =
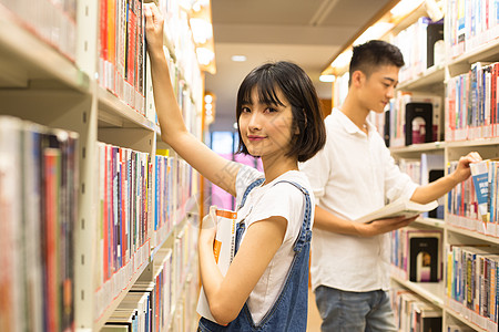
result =
M8 294L7 299L12 303L12 308L0 313L2 331L68 331L71 329L100 331L110 319L115 318L116 309L126 302L130 291L134 291L144 282L155 284L154 278L161 271L167 274L169 281L164 281L161 289L166 289L163 286L167 286L170 290L169 294L164 293L165 297L171 298L169 305L163 298L152 293L149 295L153 300L164 300L164 303L160 303L164 304L163 308L167 311L162 315L164 320L161 325L162 331L187 331L195 324L198 290L196 257L200 222L198 175L160 138L149 73L145 71L141 73L141 70L146 68L147 61L143 49L143 34L140 33L141 1L133 1L136 4L138 18L138 23L134 25L136 29L134 54L136 52L138 55L135 58L126 55L134 62L134 77L121 76L122 72L116 66L114 72L112 70L105 72L113 79L104 80L100 68L103 58L100 20L103 15L101 4L104 2L115 6L116 10L125 3L111 0L65 0L58 1L57 4L42 0L37 0L34 3L33 1L0 1L0 28L2 29L0 125L6 125L4 128L16 136L12 142L19 147L24 146L20 145L24 144L22 143L24 141L19 143L20 141L17 139L30 134L31 127L48 136L57 137L57 134L64 136L67 134L61 133L69 133L70 136L78 137L74 146L78 165L74 168L68 168L69 170L61 166L60 170L61 174L70 172L74 175L75 180L71 186L74 196L69 197L68 191L64 191L68 188L61 185L57 194L59 198L53 203L55 209L60 209L54 212L57 218L60 218L54 217L54 220L59 220L55 221L55 226L61 227L61 231L62 227L68 227L68 231L71 231L70 238L55 237L57 240L53 243L55 248L60 248L61 256L61 261L57 261L55 266L60 269L58 271L68 269L70 276L51 274L49 277L64 284L63 290L53 291L52 301L54 302L51 302L52 307L49 309L45 309L47 303L43 302L43 294L48 290L44 289L45 284L40 279L41 274L38 276L38 281L32 281L30 279L33 278L32 273L23 277L20 272L22 269L29 270L27 264L33 263L37 266L34 269L37 273L49 273L40 267L42 264L40 259L44 259L44 256L29 256L30 252L35 252L35 248L19 241L31 239L33 230L23 230L20 226L12 224L14 220L19 220L20 225L33 222L20 212L22 210L18 203L14 205L16 209L9 205L9 201L27 198L28 201L20 201L32 203L38 207L48 204L45 203L48 198L43 197L42 193L37 194L37 199L33 199L24 193L27 190L24 186L29 187L24 176L31 174L29 170L32 165L21 167L26 165L24 154L8 148L10 141L7 138L10 139L10 137L2 136L6 139L0 142L2 158L16 164L16 167L10 167L9 169L12 169L8 170L16 172L16 177L23 184L19 190L13 190L12 195L8 196L10 198L7 204L0 204L1 215L7 214L7 219L11 220L8 227L13 227L12 232L7 235L17 237L8 238L9 240L4 242L7 245L0 246L2 247L0 260L13 267L7 277L0 278L3 282L0 293L2 298ZM186 30L189 29L186 9L180 7L177 1L169 2L169 6L164 10L172 11L169 12L170 18L175 23L182 24L183 29L173 29L173 35L165 37L167 45L165 52L173 69L172 80L177 87L179 102L189 128L201 139L204 75L196 61L192 35ZM181 32L184 34L181 35ZM119 40L126 35L116 34L115 39L109 40ZM119 62L120 58L115 60L108 58L108 60ZM110 82L114 82L114 85ZM19 120L12 122L14 125L10 127L10 117ZM31 129L26 129L27 127ZM43 148L39 153L44 153ZM115 155L108 156L105 154L108 149L114 151ZM167 203L161 206L167 209L167 214L165 212L162 224L157 224L155 211L160 206L156 206L155 198L155 158L163 154L164 149L170 149L170 154L163 158L164 165L169 167L165 176L170 177L171 185L164 189L167 196L163 193L164 195L161 194L157 197L160 200L167 199ZM109 159L102 159L102 156ZM123 159L118 159L118 156ZM112 167L109 168L111 170L104 170L104 168L108 169L108 166L104 166L108 165L106 163L113 163L109 165L116 167L119 177L112 173ZM19 172L17 167L20 168ZM42 179L44 188L48 185L42 177L43 167L38 165L34 172ZM9 177L12 174L7 173L6 176ZM6 187L8 184L10 183L3 181L0 185L2 187L0 196L8 194L9 190ZM111 185L108 186L108 184ZM133 191L134 189L136 190ZM108 194L103 193L110 194L106 196ZM128 201L125 198L132 200ZM74 207L72 219L65 218L64 214L69 214L68 208L64 210L67 205ZM106 209L103 206L109 206L108 212L103 212ZM37 210L37 212L40 211ZM47 214L42 210L37 217L39 220L37 227L42 227L42 220ZM109 220L111 224L106 224ZM42 232L48 230L42 229ZM103 246L105 243L103 234L108 234L112 240L108 242L108 247ZM38 241L45 240L38 239ZM70 249L67 252L59 246L69 246ZM112 257L108 257L106 261L103 252L108 248L111 248L109 249L111 252L115 250L118 253L110 253ZM9 255L17 249L21 252L19 258L28 259L27 264L18 266L12 262L14 257ZM43 255L45 255L44 251ZM170 260L166 260L169 255ZM113 259L115 261L112 262L112 267L105 268L111 269L111 272L104 277L102 267ZM19 278L23 281L17 281ZM37 284L35 293L24 288L23 282L28 282L24 279ZM13 289L12 293L9 292L9 288ZM53 288L57 288L57 284ZM32 299L34 301L30 303ZM53 309L58 305L70 305L68 317ZM29 310L24 310L27 308ZM9 314L16 317L16 320L12 320ZM157 314L157 312L152 310L150 314ZM51 325L43 323L43 317L48 315L50 315Z

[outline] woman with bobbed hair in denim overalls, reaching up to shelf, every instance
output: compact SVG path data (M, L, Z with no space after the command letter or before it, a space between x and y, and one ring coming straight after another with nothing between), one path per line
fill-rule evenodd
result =
M162 139L240 206L237 252L225 277L213 255L215 227L200 234L201 280L218 323L201 319L200 331L305 331L315 201L297 164L325 143L309 77L293 63L268 63L240 86L240 152L261 157L262 174L222 158L186 131L163 53L163 18L154 4L145 4L145 18Z

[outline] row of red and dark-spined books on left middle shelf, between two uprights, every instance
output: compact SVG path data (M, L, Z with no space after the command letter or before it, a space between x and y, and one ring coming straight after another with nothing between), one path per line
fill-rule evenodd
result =
M98 143L98 317L147 262L152 165L147 153Z

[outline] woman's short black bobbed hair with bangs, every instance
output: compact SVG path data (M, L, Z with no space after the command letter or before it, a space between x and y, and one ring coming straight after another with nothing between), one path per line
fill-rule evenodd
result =
M296 156L298 162L312 158L326 143L326 128L322 116L320 103L310 77L298 65L286 62L265 63L254 69L241 83L237 92L236 117L244 103L251 101L253 89L257 89L258 98L264 104L283 104L276 94L281 90L289 101L293 113L292 132L298 129L289 142L286 156ZM240 134L237 153L249 154Z

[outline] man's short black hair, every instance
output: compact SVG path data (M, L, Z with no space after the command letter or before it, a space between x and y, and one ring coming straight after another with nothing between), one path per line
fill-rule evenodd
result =
M349 79L355 71L361 71L369 76L381 65L404 66L404 55L400 50L386 41L371 40L354 46L349 66ZM349 82L348 82L349 85Z

